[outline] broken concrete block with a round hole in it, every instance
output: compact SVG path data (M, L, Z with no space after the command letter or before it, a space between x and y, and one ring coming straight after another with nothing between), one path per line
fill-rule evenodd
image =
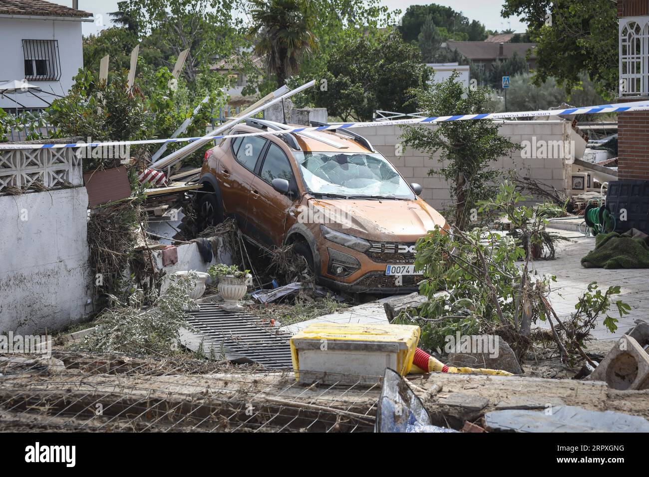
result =
M622 336L589 379L613 389L649 389L649 354L631 336Z

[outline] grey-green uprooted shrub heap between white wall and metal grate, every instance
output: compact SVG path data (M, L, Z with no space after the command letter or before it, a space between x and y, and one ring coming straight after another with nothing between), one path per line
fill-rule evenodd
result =
M93 353L157 356L177 353L180 328L191 329L188 313L184 310L196 305L188 295L196 284L194 274L178 276L149 307L144 306L145 293L138 288L130 290L125 302L112 295L112 306L99 315L95 330L69 348Z

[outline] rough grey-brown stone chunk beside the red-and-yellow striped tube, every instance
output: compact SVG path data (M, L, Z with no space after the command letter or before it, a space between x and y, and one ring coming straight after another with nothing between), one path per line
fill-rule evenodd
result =
M448 354L449 365L502 369L509 373L522 374L516 355L500 336L462 336L461 339L466 339L468 351L465 350L461 341L456 342L454 351ZM495 349L490 349L491 344Z

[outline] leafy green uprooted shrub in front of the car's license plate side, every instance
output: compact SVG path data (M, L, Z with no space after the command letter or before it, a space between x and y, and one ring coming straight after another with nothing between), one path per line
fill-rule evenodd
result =
M596 284L591 284L576 312L563 323L548 300L556 277L537 275L530 267L530 249L542 239L539 230L543 219L534 217L529 208L517 207L522 199L505 183L495 201L481 202L481 210L506 216L526 238L526 247L520 240L487 228L463 232L437 227L419 239L415 268L424 275L419 291L428 301L417 315L404 313L397 321L419 324L423 347L443 349L445 337L456 332L497 334L522 361L532 344L532 324L547 321L564 362L579 356L587 359L583 341L613 304L611 297L619 293L619 287L610 287L602 294ZM620 316L628 312L628 305L616 304ZM612 332L617 328L616 321L606 315L604 324Z

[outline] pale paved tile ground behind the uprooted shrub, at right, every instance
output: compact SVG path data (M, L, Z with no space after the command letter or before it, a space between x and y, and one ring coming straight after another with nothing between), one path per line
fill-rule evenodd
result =
M622 336L631 328L635 320L649 320L649 269L584 268L580 260L594 249L595 239L580 236L576 232L566 232L565 230L557 230L557 232L573 238L574 243L561 244L556 260L536 262L535 270L539 273L551 273L557 277L557 282L552 286L550 300L552 300L552 306L559 318L567 317L571 312L574 312L574 306L586 291L588 284L597 282L597 285L604 290L611 285L619 285L622 293L617 295L617 299L628 303L631 306L631 312L620 318L617 308L611 309L609 315L619 319L617 331L615 334L611 334L602 324L602 318L593 330L594 337L614 339Z

